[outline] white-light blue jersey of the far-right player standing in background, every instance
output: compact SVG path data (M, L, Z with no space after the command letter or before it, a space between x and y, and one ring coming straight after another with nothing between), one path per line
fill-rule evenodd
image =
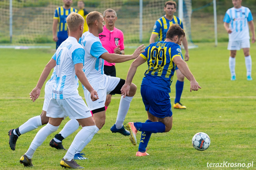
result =
M229 28L232 30L229 34L229 41L250 39L248 22L252 20L252 13L247 7L228 9L223 22L229 23Z

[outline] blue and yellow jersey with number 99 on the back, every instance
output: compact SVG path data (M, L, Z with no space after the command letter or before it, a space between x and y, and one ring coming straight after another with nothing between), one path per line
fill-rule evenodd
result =
M182 57L179 44L159 41L150 44L140 56L147 61L148 69L141 85L171 92L171 82L175 71L174 57Z

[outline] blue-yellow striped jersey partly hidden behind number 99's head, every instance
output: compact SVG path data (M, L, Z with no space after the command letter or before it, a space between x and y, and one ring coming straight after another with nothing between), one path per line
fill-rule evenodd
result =
M183 29L183 23L178 17L173 16L173 19L170 21L165 16L163 16L156 20L152 34L158 35L158 41L165 41L166 33L172 24L179 24Z

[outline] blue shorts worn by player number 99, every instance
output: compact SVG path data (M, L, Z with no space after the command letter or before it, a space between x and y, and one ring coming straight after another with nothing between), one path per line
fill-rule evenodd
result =
M168 92L141 85L140 93L146 111L159 118L172 116L171 100Z

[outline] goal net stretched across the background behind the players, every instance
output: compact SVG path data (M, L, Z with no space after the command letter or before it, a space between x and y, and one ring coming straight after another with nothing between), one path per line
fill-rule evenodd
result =
M77 9L77 1L72 7ZM176 0L177 1L177 0ZM84 1L88 12L103 12L112 8L117 12L115 27L124 33L125 43L139 43L140 19L139 0L94 0ZM166 0L144 0L142 20L142 42L149 43L155 21L163 16ZM177 1L178 3L178 1ZM62 0L12 0L12 44L34 45L38 43L53 43L53 15L57 7L62 6ZM179 5L179 4L178 4ZM192 46L191 39L191 0L184 0L184 30ZM9 0L0 1L0 43L9 43ZM178 15L178 12L176 12Z

